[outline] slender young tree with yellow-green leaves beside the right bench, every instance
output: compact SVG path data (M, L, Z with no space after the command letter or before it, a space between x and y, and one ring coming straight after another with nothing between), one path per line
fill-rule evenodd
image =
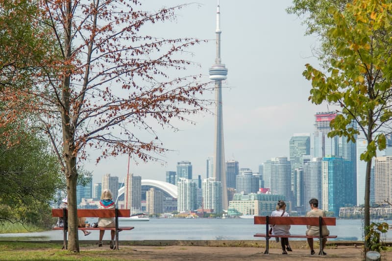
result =
M333 24L326 31L333 53L327 74L306 65L303 75L312 82L309 99L337 104L342 109L331 121L328 137L344 136L356 142L362 133L368 142L361 160L367 162L365 180L365 235L370 228L370 170L376 150L386 147L392 120L392 3L390 0L354 0L344 10L330 7ZM358 129L354 128L355 121ZM366 237L367 238L367 237ZM366 251L371 242L365 240Z

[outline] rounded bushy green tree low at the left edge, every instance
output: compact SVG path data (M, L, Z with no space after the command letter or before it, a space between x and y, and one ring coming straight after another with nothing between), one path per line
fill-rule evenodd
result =
M62 184L57 157L48 151L48 142L22 130L17 136L1 136L0 155L0 222L43 227L44 210Z

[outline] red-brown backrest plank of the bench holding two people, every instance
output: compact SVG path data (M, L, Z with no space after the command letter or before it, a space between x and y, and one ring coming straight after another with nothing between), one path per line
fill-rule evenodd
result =
M255 225L309 225L319 226L318 216L255 216ZM336 217L321 217L321 225L336 226Z

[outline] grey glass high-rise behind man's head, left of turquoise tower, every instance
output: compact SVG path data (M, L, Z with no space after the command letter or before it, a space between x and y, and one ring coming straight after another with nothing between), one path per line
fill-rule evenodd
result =
M319 199L319 206L322 206L321 198L321 165L322 158L312 158L303 166L303 198L304 211L309 210L309 200Z

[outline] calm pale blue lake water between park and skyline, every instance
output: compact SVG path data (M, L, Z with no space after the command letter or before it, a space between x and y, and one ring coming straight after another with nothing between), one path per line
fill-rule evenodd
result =
M90 222L95 220L91 219ZM360 219L337 219L336 226L329 226L331 235L337 235L335 240L363 240L363 221ZM387 221L392 223L391 220ZM254 225L253 219L213 219L213 218L151 218L149 221L121 221L120 226L134 226L131 231L120 233L121 240L258 240L255 233L265 233L265 225ZM304 234L305 226L292 226L292 234ZM84 237L79 232L79 240L94 240L98 231L92 231ZM17 239L28 237L32 239L62 240L62 231L46 231L37 233L0 234L1 238ZM387 241L392 241L392 230L389 230ZM104 239L109 239L106 232ZM295 238L290 239L295 240ZM298 240L300 240L298 238Z

